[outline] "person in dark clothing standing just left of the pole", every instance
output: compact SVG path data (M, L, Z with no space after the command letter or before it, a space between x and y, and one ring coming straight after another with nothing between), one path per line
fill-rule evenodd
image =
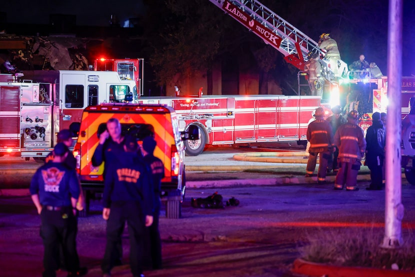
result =
M383 164L384 164L384 147L386 131L383 122L380 120L380 113L372 114L372 125L366 131L366 165L370 169L371 183L367 190L381 190Z

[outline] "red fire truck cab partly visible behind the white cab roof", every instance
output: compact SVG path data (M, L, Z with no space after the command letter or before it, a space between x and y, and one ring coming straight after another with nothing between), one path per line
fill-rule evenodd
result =
M144 91L143 58L97 58L94 60L95 71L116 71L122 80L134 80L138 95Z

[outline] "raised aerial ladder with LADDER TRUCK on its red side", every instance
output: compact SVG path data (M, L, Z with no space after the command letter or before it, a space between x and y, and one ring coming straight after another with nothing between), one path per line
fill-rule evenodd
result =
M309 58L309 53L318 53L323 64L322 75L328 81L334 77L324 52L318 43L302 33L296 27L281 18L275 12L257 0L209 0L225 13L263 39L284 55L284 60L299 70ZM340 76L346 74L347 64L339 60L339 67L344 68ZM325 71L325 72L324 72ZM338 77L340 77L338 76Z

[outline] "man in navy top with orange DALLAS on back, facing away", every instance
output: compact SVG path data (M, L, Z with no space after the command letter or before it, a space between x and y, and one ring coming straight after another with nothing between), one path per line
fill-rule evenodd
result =
M110 275L114 266L111 257L128 223L130 240L130 266L134 276L142 274L143 236L145 226L153 221L153 189L151 173L138 154L138 144L133 136L124 138L124 152L107 168L102 196L102 217L106 222L106 246L101 269Z

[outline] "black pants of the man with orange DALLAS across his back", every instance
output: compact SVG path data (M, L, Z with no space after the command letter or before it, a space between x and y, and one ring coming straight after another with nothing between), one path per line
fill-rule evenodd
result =
M128 224L129 263L132 275L142 273L144 216L138 201L112 202L108 220L106 221L106 246L101 264L103 273L109 273L117 258L118 241L123 232L125 221Z

